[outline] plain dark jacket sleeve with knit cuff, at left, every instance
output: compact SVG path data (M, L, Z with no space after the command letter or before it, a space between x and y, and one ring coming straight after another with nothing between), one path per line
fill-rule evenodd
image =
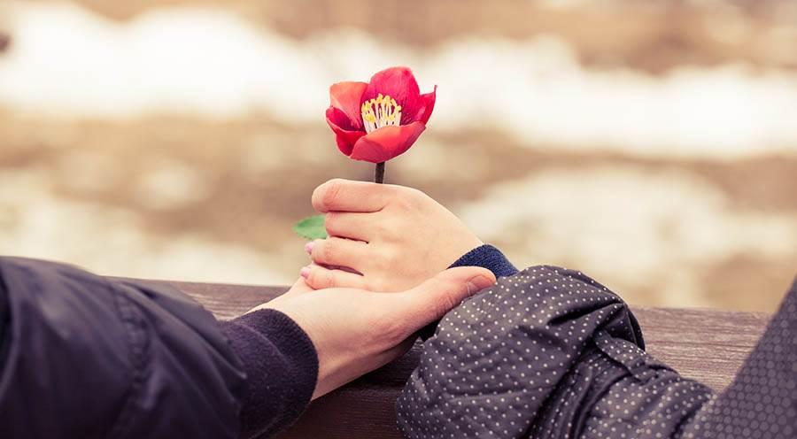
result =
M0 435L273 433L309 401L317 359L292 321L252 314L220 325L189 297L161 284L0 258ZM280 338L275 331L285 327L294 332ZM236 339L229 340L231 335ZM256 350L263 353L261 361L251 355ZM294 381L304 387L286 389L280 381L285 369L302 361L307 365L296 372L302 378ZM271 386L248 376L269 367ZM276 409L254 410L259 417L244 420L253 398L260 404L273 398Z

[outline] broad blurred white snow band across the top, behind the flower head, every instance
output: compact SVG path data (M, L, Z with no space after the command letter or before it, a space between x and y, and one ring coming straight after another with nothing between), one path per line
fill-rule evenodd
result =
M744 65L663 76L579 65L555 36L460 38L420 49L355 29L303 41L220 9L170 7L112 22L76 4L7 2L0 105L56 117L152 112L231 119L256 111L323 124L329 84L411 65L440 86L431 124L485 127L530 147L631 155L797 155L797 74Z

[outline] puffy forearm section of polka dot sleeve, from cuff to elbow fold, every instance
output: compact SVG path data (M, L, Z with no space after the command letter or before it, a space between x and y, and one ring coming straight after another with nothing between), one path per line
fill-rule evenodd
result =
M397 402L406 437L523 437L596 331L642 344L623 301L552 266L501 278L440 322Z

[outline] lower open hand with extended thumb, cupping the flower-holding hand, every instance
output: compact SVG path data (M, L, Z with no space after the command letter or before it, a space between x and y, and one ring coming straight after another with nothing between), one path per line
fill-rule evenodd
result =
M445 270L414 289L375 293L365 289L311 289L303 279L262 304L294 320L318 352L313 399L368 374L409 350L414 333L457 304L495 283L484 268Z

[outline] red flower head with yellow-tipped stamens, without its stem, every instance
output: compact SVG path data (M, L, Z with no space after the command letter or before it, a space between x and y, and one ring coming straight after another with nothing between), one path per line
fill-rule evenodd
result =
M413 72L391 67L365 82L329 88L327 123L349 158L382 163L409 150L426 129L435 93L422 95Z

